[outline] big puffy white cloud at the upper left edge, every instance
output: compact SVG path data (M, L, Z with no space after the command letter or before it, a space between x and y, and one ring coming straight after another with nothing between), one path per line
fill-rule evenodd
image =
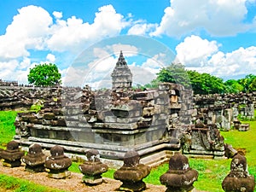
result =
M1 60L29 56L28 49L44 49L52 18L44 9L27 6L18 10L6 33L0 36Z

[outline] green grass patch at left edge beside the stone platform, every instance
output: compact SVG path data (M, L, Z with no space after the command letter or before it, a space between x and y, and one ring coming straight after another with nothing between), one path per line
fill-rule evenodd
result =
M0 147L6 146L15 136L16 111L0 111Z

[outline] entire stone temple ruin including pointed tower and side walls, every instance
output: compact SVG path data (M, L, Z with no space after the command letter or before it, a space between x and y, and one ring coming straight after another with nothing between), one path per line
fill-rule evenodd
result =
M143 164L156 166L177 151L222 158L224 138L218 129L229 130L238 114L254 118L256 93L193 96L192 90L170 83L132 90L122 52L111 76L112 90L1 86L1 110L44 101L38 112L18 113L15 141L24 148L61 145L73 157L96 149L115 167L127 151L136 150Z

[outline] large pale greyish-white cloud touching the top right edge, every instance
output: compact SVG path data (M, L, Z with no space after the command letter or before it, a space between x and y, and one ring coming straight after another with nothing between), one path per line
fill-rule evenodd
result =
M235 35L253 26L242 23L246 15L246 0L171 0L151 35L180 37L202 28L214 36Z

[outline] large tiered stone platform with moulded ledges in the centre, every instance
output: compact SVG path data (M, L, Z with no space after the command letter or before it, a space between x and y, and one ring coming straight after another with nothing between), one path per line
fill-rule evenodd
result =
M182 131L170 123L178 121L179 86L164 86L165 89L139 92L91 91L89 87L63 90L61 97L45 100L38 113L19 113L15 138L22 138L23 144L41 143L45 148L50 147L49 143L61 144L75 153L84 151L82 147L95 148L103 158L117 160L131 146L137 146L143 155L160 148L178 150ZM175 142L169 143L170 138Z

